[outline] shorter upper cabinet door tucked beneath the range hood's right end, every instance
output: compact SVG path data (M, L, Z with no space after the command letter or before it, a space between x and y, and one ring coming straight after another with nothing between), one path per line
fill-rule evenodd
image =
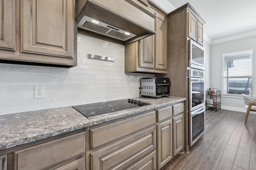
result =
M140 67L155 68L155 35L140 40L139 58Z

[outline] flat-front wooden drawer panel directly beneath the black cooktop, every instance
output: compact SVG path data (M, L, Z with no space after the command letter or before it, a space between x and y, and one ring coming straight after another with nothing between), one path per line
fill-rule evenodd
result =
M118 121L90 130L90 147L94 149L156 123L156 113L152 111L144 115Z

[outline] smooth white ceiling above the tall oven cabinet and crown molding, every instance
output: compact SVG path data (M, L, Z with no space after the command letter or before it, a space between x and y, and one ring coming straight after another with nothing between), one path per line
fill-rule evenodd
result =
M168 0L175 8L189 3L206 21L211 41L256 31L256 0Z

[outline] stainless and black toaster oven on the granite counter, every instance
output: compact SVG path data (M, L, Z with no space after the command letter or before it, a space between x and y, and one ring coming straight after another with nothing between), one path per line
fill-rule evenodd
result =
M170 79L166 77L153 77L141 79L141 95L143 97L160 98L170 95Z

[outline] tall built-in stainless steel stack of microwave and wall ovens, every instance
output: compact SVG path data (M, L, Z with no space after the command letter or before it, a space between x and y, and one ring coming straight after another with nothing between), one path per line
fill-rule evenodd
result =
M188 138L192 146L204 135L204 48L188 41Z

